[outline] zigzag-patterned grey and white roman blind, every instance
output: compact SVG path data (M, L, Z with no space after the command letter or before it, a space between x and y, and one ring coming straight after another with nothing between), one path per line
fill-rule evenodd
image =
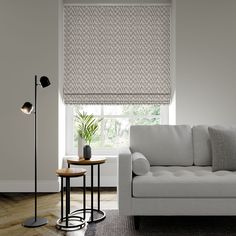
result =
M66 104L169 104L170 5L65 5Z

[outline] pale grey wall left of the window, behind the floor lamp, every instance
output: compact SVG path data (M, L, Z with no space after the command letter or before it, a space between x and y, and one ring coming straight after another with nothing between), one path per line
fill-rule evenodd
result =
M39 190L56 191L58 181L58 0L0 1L0 192L33 191L33 118L20 111L38 87Z

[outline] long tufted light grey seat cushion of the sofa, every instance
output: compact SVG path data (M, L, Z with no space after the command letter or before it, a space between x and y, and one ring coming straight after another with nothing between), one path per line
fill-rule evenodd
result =
M152 166L133 178L133 197L236 197L236 171L211 166Z

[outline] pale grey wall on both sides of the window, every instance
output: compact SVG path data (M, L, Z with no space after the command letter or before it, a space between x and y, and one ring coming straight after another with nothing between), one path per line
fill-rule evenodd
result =
M235 124L236 1L173 2L177 124ZM60 3L0 1L0 192L33 190L33 116L20 107L33 101L35 74L52 82L38 89L39 187L58 189L55 169L64 152Z

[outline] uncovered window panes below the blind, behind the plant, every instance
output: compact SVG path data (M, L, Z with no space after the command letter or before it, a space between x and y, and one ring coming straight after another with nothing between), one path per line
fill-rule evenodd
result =
M129 145L130 125L168 123L168 106L160 105L67 105L67 155L76 155L78 134L74 115L77 111L103 118L91 143L93 154L116 155Z

